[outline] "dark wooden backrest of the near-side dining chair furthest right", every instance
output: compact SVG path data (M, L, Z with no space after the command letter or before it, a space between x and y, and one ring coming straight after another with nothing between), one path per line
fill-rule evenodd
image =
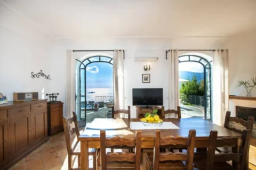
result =
M218 132L211 131L209 138L209 147L207 151L207 170L211 170L214 167L214 162L226 162L234 161L236 162L237 169L246 169L246 158L248 157L250 139L252 136L252 131L244 130L241 138L237 137L225 137L217 138ZM236 152L221 152L215 154L215 147L236 147Z

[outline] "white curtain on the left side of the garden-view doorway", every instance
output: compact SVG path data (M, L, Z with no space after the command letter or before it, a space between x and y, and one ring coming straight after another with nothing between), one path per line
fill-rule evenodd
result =
M170 110L177 110L179 106L179 62L178 62L178 50L170 50L168 56L169 65L169 94L168 94L168 104Z

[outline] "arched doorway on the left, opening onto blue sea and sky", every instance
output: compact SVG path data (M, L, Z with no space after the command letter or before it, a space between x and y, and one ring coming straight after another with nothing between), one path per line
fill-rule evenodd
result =
M76 112L86 124L106 117L106 103L113 102L113 59L105 55L76 59ZM102 113L101 113L102 112Z

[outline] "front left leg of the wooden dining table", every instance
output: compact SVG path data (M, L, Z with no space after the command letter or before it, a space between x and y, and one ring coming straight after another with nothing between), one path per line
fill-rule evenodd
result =
M81 141L81 170L89 169L87 141Z

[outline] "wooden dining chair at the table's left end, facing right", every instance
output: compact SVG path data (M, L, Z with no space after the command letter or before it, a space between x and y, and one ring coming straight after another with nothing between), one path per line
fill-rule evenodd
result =
M74 115L74 113L73 113ZM77 140L80 135L77 131L78 127L75 123L75 117L72 118L63 118L63 129L66 139L67 151L68 151L68 170L80 169L81 166L81 151L80 151L80 141ZM74 123L74 124L73 124ZM94 148L89 149L89 155L93 157L93 170L96 170L96 150ZM77 157L78 167L73 168L73 159L72 157ZM89 159L89 158L88 158Z

